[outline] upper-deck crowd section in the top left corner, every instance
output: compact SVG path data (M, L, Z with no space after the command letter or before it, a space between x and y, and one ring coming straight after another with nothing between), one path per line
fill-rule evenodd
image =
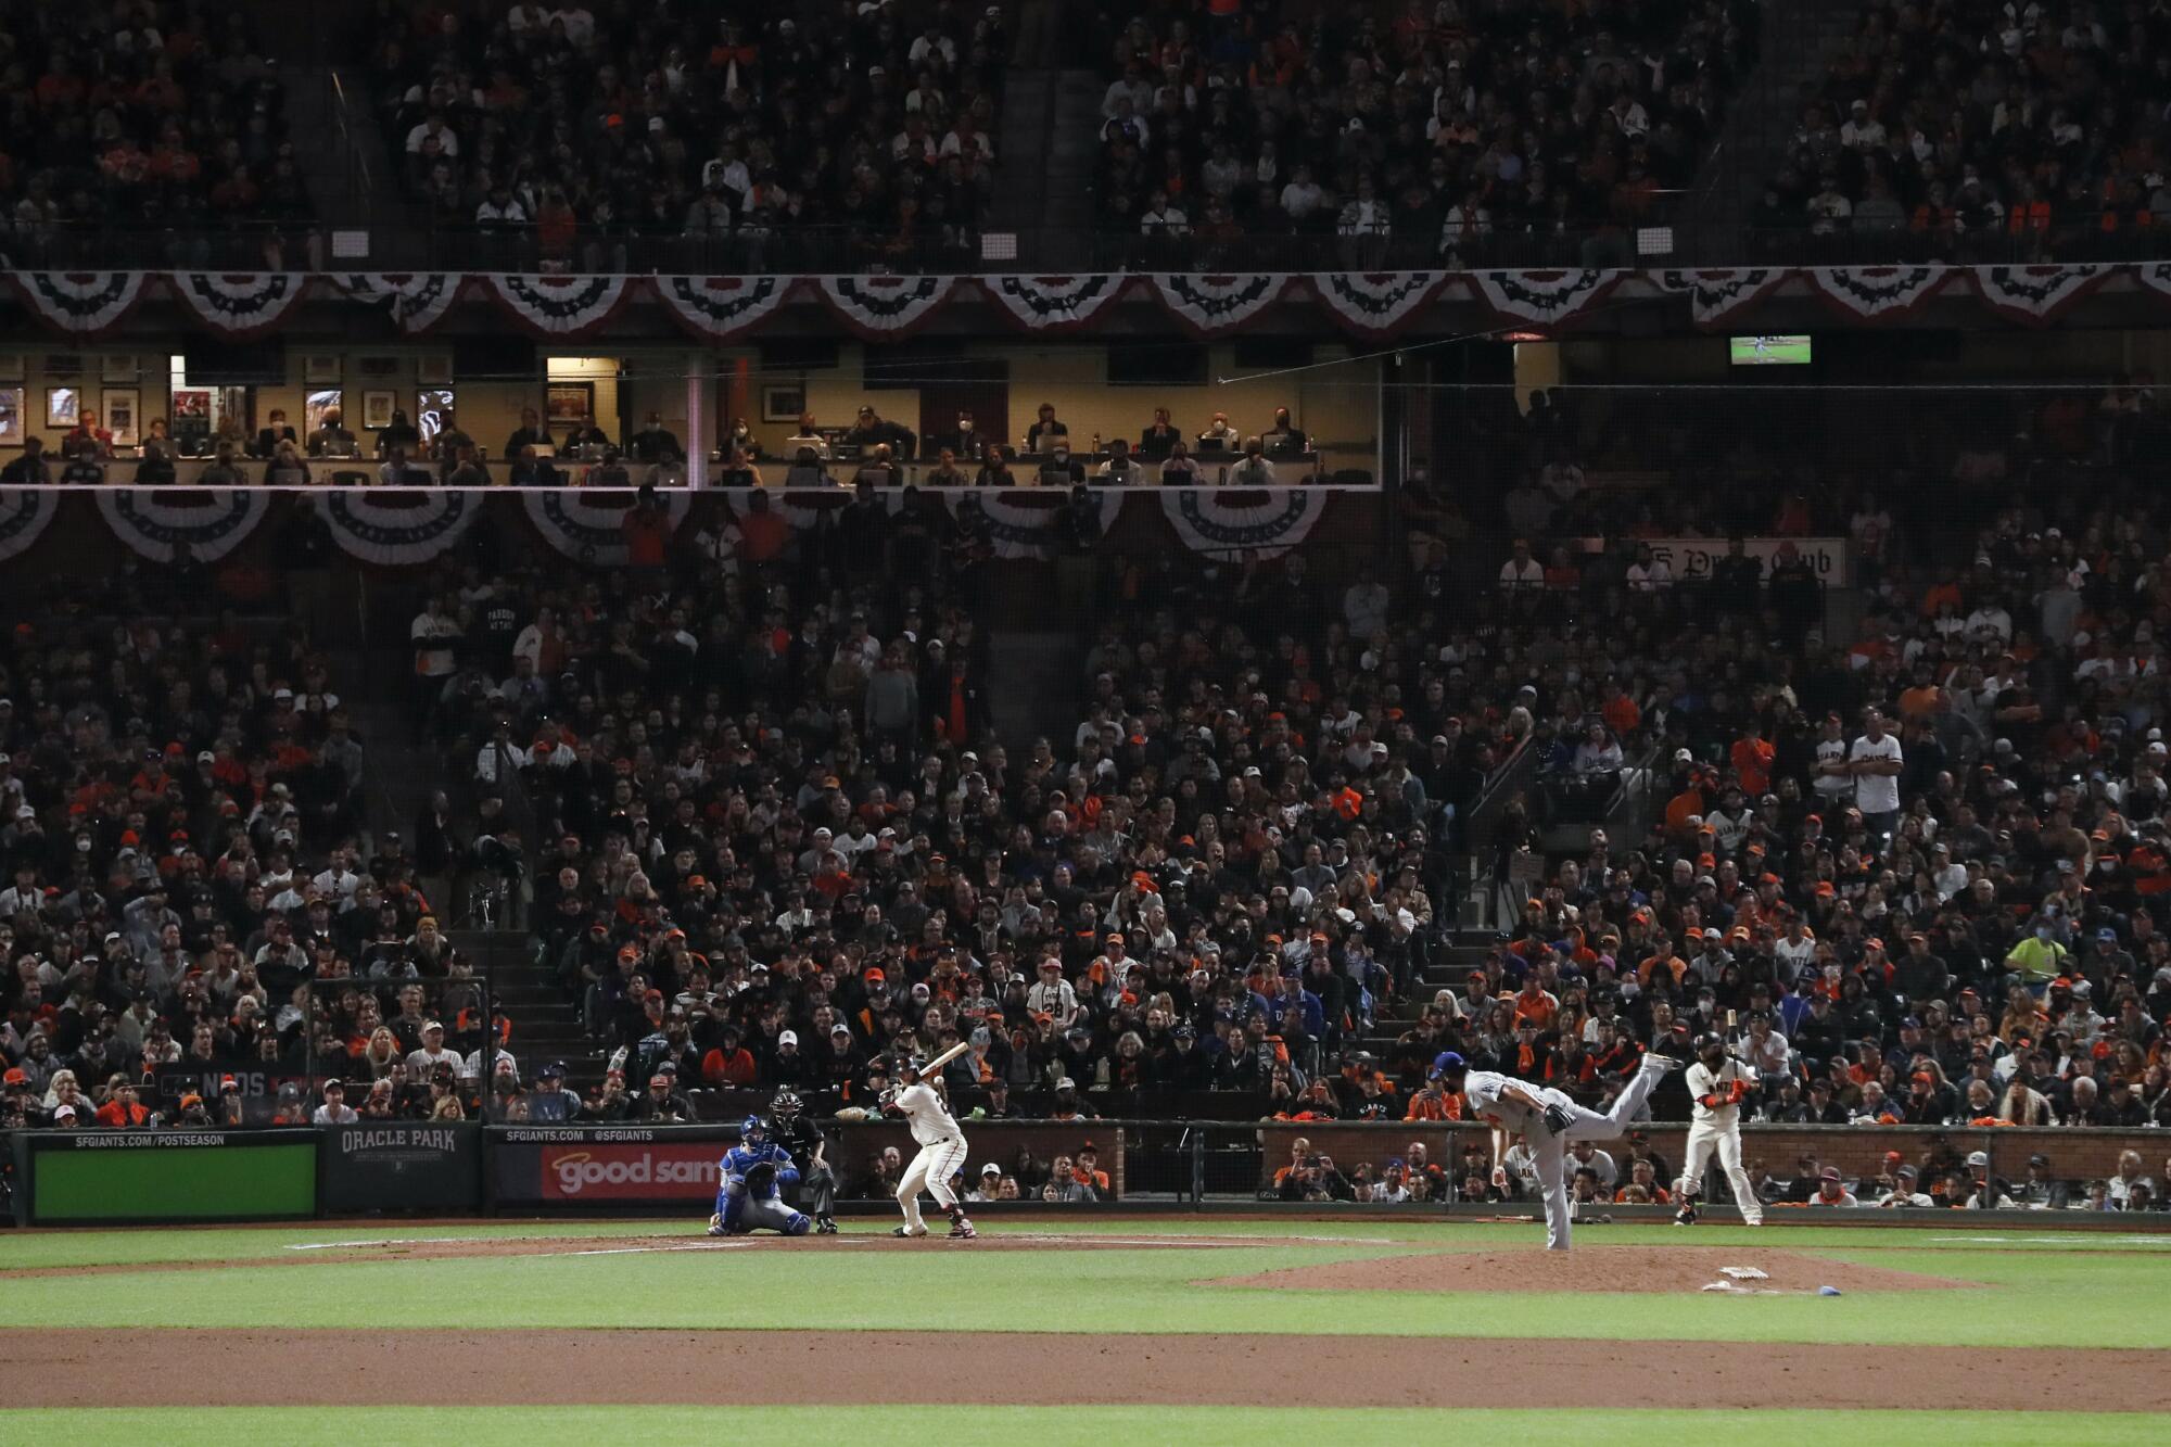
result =
M139 263L187 267L247 232L263 269L297 265L313 209L245 11L104 9L0 7L0 254L37 267L63 239L126 232Z

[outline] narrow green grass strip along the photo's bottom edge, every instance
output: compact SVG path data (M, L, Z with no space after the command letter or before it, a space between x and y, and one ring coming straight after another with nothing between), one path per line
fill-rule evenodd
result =
M0 1410L0 1438L41 1447L122 1440L158 1447L304 1447L354 1440L458 1440L465 1447L532 1447L567 1434L595 1440L695 1443L729 1436L773 1440L940 1440L947 1447L1101 1447L1109 1440L1253 1447L1261 1440L1333 1440L1340 1445L1407 1447L1448 1430L1457 1443L1611 1440L1622 1430L1611 1410L1409 1410L1368 1408L1307 1412L1303 1384L1292 1382L1285 1408L988 1408L970 1406L860 1408L714 1408L571 1406L571 1408L80 1408ZM2171 1419L2115 1412L1652 1412L1635 1414L1637 1436L1654 1440L1865 1440L1895 1438L1910 1447L2034 1447L2039 1443L2162 1443Z

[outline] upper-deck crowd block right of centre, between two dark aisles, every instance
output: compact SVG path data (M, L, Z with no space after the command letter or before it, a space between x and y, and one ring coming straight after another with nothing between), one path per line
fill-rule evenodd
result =
M1146 261L1630 265L1754 59L1735 9L1153 7L1103 41L1101 224Z

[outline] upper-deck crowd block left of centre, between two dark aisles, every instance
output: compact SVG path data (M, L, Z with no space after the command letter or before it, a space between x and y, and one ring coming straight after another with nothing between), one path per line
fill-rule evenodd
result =
M627 269L636 241L751 263L816 228L849 243L838 269L973 248L1010 50L999 7L512 4L488 24L389 9L360 39L439 230L597 272Z

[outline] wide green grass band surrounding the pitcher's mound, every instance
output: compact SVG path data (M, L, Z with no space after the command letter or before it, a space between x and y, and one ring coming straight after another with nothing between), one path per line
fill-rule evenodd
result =
M1678 1236L1676 1236L1678 1238ZM1704 1243L1706 1238L1700 1238ZM1798 1243L1767 1232L1767 1245ZM1491 1236L1489 1245L1502 1245ZM1856 1243L1861 1247L1861 1243ZM172 1275L7 1282L11 1325L343 1328L358 1299L460 1301L473 1328L814 1328L994 1332L1277 1332L1574 1336L1876 1345L2171 1347L2171 1260L2102 1251L1843 1251L1834 1258L1984 1282L1986 1291L1724 1299L1700 1293L1340 1293L1201 1286L1407 1245L1220 1249L799 1251L323 1262ZM2106 1325L2117 1323L2115 1341Z

